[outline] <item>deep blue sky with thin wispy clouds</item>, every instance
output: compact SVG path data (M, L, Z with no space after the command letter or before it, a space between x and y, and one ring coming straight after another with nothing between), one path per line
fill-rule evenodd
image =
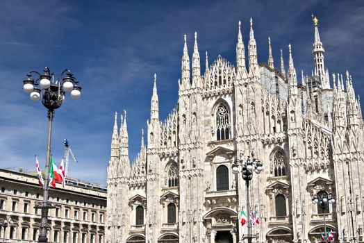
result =
M313 24L320 20L329 72L349 72L364 99L364 1L0 1L0 167L44 167L47 110L22 91L31 70L71 69L82 97L66 97L53 121L52 153L63 156L67 137L78 158L69 175L106 185L114 112L127 111L131 160L140 149L149 119L153 75L157 74L160 118L176 106L183 35L192 56L198 33L201 69L220 54L235 65L238 21L247 47L249 17L254 19L258 61L267 62L267 37L275 65L288 44L299 76L313 68Z

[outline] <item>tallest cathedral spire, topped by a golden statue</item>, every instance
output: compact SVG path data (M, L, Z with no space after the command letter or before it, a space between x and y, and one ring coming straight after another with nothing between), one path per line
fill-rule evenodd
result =
M329 89L329 82L326 80L325 73L325 65L324 65L324 47L322 46L322 42L320 40L320 33L318 31L318 19L317 17L312 16L313 26L315 28L315 40L313 42L313 57L315 59L315 76L320 78L322 89Z

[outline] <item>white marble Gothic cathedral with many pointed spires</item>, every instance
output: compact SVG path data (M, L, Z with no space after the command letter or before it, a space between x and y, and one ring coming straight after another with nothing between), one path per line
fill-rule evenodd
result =
M233 160L263 162L249 187L260 218L254 242L322 242L326 227L338 242L363 242L363 117L351 75L329 75L318 21L313 74L297 82L293 48L288 71L258 64L253 23L247 51L240 22L235 66L218 56L201 74L197 34L192 65L185 37L179 100L164 121L156 75L147 146L129 162L126 112L117 115L108 165L107 242L242 242L247 190ZM328 41L328 40L326 40ZM247 52L247 60L245 54ZM192 69L192 70L191 70ZM336 199L324 211L315 194ZM244 240L245 241L245 240Z

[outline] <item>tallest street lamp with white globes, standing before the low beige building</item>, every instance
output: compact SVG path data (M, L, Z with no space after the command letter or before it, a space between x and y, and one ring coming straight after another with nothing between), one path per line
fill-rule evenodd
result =
M35 78L33 78L33 75L35 75ZM48 203L49 159L51 157L51 132L54 110L60 108L65 100L66 92L71 92L72 99L79 99L81 97L81 87L78 86L77 79L74 78L69 69L65 69L56 80L55 75L51 73L48 67L44 69L44 74L32 71L26 76L28 78L24 81L24 92L30 93L32 101L38 101L42 98L43 106L48 109L46 168L44 171L43 202L42 206L40 206L42 208L42 223L38 239L39 242L47 242L48 208L51 208Z

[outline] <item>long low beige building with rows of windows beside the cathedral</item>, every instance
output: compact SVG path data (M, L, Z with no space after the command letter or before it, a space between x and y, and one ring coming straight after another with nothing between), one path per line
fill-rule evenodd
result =
M0 169L0 219L11 218L5 234L6 242L38 242L42 204L42 187L36 176ZM48 242L104 243L106 188L66 180L65 189L57 184L49 190Z

